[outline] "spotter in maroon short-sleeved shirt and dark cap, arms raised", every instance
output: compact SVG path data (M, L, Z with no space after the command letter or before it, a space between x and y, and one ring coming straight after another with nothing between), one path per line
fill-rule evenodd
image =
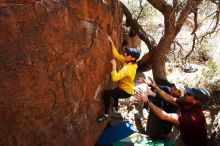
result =
M180 113L167 113L150 102L146 94L140 92L135 94L158 117L178 125L180 138L176 140L174 146L207 146L206 119L202 111L202 105L207 103L210 97L209 92L202 87L185 87L184 96L177 99L161 90L153 79L149 79L151 85L165 101L180 107Z

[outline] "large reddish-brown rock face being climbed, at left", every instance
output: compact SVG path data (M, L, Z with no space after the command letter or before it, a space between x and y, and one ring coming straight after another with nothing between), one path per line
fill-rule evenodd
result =
M0 0L0 145L93 146L111 87L115 0Z

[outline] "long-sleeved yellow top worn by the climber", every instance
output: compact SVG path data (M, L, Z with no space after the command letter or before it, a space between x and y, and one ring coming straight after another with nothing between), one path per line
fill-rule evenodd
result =
M114 57L120 62L124 63L122 69L117 71L112 71L112 81L118 81L118 87L126 91L129 94L133 94L134 78L136 75L137 64L136 63L126 63L124 56L120 55L116 48L112 50Z

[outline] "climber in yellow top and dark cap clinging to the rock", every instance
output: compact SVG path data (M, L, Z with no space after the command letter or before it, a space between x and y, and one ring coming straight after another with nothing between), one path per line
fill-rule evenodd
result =
M125 54L120 55L115 48L115 45L110 36L108 40L111 44L113 56L122 62L123 67L116 70L116 60L112 59L112 81L118 81L118 87L115 89L105 90L102 94L104 99L105 112L97 118L98 122L103 122L109 117L110 109L113 106L118 108L118 99L129 98L133 94L134 78L137 70L137 60L139 59L140 53L135 48L126 48Z

